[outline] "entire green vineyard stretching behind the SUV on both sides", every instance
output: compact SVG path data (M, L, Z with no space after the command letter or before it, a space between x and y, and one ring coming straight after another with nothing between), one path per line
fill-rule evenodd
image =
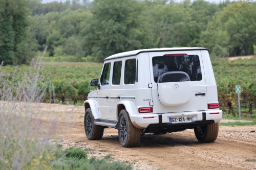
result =
M241 86L241 106L252 114L256 107L256 59L212 61L218 85L218 96L224 113L236 112L238 96L235 85ZM86 100L90 81L99 78L102 63L62 63L34 66L2 66L0 70L0 96L4 91L17 95L19 84L32 87L34 77L37 84L46 88L42 101L46 103L76 104ZM33 81L32 81L33 80ZM29 88L27 88L29 90ZM40 89L39 89L40 90Z

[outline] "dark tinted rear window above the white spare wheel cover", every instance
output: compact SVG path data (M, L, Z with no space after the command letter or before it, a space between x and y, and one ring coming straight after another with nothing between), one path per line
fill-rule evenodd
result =
M197 55L159 56L152 58L154 81L167 71L183 71L188 74L190 81L202 80L199 57Z

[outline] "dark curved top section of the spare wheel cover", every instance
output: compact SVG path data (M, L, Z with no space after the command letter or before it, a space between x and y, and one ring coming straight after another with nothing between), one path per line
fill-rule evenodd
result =
M169 74L162 74L158 78L158 83L167 83L167 82L186 82L189 81L189 78L185 74L181 73L172 73L169 72Z

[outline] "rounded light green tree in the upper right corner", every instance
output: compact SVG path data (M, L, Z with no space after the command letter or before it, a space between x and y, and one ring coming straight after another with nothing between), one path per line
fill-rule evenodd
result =
M227 48L231 56L252 54L256 39L256 3L228 4L214 15L200 37L200 43L210 50L218 44Z

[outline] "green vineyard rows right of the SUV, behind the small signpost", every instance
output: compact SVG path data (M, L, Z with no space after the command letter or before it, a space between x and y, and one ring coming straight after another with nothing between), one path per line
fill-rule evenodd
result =
M238 94L235 86L241 86L241 106L252 110L256 107L256 59L214 60L212 61L221 109L228 112L237 109Z

